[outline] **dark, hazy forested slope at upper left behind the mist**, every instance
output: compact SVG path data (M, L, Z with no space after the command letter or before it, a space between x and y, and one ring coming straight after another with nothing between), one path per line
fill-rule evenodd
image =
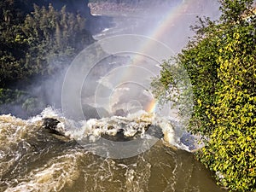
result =
M79 11L82 5L86 10L86 1L79 2L84 4L76 9L73 1L64 0L1 1L0 104L24 102L24 107L34 101L20 89L35 77L54 75L94 41L88 32L86 13ZM67 6L61 8L65 3Z

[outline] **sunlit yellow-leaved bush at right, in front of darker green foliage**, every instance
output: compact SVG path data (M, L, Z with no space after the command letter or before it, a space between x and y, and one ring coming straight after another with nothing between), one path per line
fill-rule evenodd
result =
M255 21L255 20L254 20ZM216 125L201 160L220 172L231 190L256 189L256 51L255 28L232 28L219 49L218 78L212 124Z

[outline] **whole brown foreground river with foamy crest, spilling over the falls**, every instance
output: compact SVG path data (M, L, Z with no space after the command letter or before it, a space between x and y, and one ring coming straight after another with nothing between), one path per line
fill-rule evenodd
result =
M44 129L44 118L58 119L61 122L58 129L67 137ZM137 131L140 131L137 137L143 137L148 134L145 128L149 124L154 124L149 129L159 127L164 136L159 134L160 139L152 148L130 158L102 157L77 142L81 136L89 137L90 143L95 143L102 134L114 136L120 125L125 127L125 137L134 137ZM0 191L208 189L222 191L211 173L189 153L189 146L175 136L170 121L158 119L152 113L81 122L66 119L52 108L26 120L0 116Z

